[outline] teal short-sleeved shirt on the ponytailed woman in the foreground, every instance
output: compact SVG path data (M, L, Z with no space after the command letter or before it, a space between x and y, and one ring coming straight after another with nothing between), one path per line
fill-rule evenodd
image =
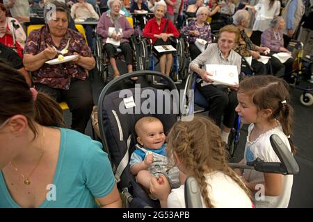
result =
M90 137L70 129L60 130L61 146L53 180L56 200L46 198L39 207L99 207L95 198L111 193L115 185L108 155L102 151L102 144ZM51 190L48 191L51 194ZM16 208L19 205L11 198L0 171L2 207Z

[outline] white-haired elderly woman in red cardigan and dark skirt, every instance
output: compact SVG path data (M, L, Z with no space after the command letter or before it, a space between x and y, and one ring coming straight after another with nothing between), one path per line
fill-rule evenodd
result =
M166 45L169 37L179 37L177 28L172 24L170 19L164 18L166 13L166 4L164 2L158 2L154 8L154 18L150 19L143 29L143 36L150 37L154 45ZM153 48L155 51L155 49ZM170 68L172 67L172 53L164 52L158 53L155 51L160 60L160 69L162 74L166 76L170 75Z

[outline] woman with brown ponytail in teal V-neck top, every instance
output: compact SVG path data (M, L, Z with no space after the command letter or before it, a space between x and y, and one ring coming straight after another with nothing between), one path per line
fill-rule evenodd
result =
M58 103L1 62L0 86L0 208L120 207L102 145L62 128Z

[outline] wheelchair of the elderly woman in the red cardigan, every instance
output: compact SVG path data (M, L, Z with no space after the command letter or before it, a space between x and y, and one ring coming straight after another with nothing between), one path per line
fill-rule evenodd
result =
M188 74L188 66L191 62L191 58L188 53L188 43L184 39L170 38L172 46L176 49L173 51L173 62L170 71L170 77L175 82L175 84L180 84L186 79ZM151 39L143 38L138 44L138 66L141 71L150 70L153 71L156 65L159 63L159 56L153 50L153 44ZM157 58L157 62L155 61ZM153 85L163 85L159 83L157 78L154 76L146 76L147 80Z

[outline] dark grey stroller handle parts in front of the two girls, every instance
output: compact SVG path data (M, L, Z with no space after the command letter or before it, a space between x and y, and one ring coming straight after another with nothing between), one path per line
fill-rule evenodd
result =
M240 169L255 169L266 173L281 173L283 175L294 175L299 172L299 166L294 156L289 152L287 146L278 135L271 135L271 145L278 155L280 162L263 162L259 158L247 164L233 164L229 166ZM185 203L187 208L202 208L201 192L197 180L190 177L185 182Z

